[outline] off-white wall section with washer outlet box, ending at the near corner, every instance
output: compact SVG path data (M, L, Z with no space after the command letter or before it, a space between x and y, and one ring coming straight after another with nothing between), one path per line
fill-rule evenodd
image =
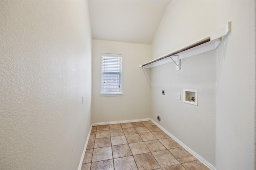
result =
M194 43L215 28L214 1L172 1L152 43L152 58ZM209 15L202 15L207 13ZM211 22L213 21L213 22ZM152 119L212 165L215 164L215 51L152 68ZM183 89L198 90L198 106L183 102ZM166 90L166 95L162 95ZM181 100L177 100L177 94Z

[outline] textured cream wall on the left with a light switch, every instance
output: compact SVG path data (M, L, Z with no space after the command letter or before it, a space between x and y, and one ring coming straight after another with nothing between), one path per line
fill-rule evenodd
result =
M0 14L1 169L77 169L91 125L88 2L1 0Z

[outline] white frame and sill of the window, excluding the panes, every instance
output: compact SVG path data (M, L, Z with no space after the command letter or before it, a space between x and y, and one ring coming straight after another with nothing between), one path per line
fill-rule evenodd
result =
M109 53L102 53L102 62L101 62L101 97L110 97L110 96L122 96L122 55L121 54L109 54ZM119 69L119 81L120 81L120 92L104 92L103 88L103 83L104 83L104 70L103 70L103 64L104 61L103 59L105 58L119 58L120 59L120 69ZM106 73L105 73L106 74Z

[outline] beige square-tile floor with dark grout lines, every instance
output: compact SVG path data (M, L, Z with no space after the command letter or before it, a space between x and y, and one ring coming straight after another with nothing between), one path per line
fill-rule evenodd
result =
M81 170L208 170L152 121L93 126Z

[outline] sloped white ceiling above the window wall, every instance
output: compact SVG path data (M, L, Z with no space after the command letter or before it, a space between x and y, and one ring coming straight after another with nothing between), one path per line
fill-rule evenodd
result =
M171 0L89 0L92 39L151 44Z

